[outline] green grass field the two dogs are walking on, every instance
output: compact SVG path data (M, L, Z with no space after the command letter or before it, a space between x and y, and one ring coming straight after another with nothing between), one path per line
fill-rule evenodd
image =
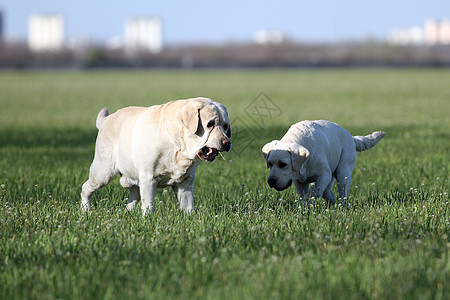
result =
M194 96L234 130L195 211L159 190L152 214L125 212L116 179L82 214L98 111ZM0 107L1 299L450 297L449 70L5 72ZM349 209L268 188L261 147L304 119L386 131Z

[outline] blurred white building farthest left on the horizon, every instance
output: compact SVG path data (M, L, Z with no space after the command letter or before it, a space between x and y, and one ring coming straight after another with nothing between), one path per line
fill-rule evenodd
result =
M32 51L60 50L64 45L64 17L32 15L28 20L28 46Z

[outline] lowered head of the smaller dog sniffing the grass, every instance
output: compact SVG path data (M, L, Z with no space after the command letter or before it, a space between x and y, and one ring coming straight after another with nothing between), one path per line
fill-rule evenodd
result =
M272 141L262 148L270 174L267 183L271 188L282 191L291 186L309 151L297 143Z

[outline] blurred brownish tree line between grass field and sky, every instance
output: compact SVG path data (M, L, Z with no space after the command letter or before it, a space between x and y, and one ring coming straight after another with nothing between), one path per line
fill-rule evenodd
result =
M376 41L259 45L171 45L160 53L110 49L32 52L24 43L0 45L0 68L296 68L448 67L450 45L394 45Z

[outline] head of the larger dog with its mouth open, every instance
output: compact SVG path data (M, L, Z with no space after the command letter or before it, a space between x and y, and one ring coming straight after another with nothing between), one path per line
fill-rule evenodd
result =
M189 99L181 109L180 119L189 148L201 160L212 162L219 152L230 151L230 120L222 104L208 98Z

